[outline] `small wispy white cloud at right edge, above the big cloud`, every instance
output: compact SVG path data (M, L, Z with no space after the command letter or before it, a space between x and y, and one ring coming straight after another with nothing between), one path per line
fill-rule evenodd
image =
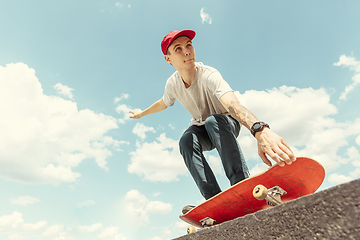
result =
M341 55L337 63L334 66L349 67L350 70L355 71L355 75L352 77L352 84L345 87L344 92L341 93L340 100L346 100L350 92L352 92L360 84L360 61L356 61L354 57L348 57Z

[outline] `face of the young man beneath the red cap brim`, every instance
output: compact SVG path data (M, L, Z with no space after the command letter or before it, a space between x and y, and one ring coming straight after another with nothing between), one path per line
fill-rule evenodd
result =
M182 36L175 39L165 55L166 62L172 64L177 70L185 70L195 67L195 49L191 40Z

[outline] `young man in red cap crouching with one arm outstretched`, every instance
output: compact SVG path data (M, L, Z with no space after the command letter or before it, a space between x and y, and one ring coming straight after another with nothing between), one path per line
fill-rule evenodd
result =
M260 122L242 106L220 73L195 62L192 30L171 31L161 42L165 61L177 70L165 86L164 96L144 111L130 111L131 118L165 110L178 100L193 117L179 141L180 152L201 194L209 199L221 192L203 151L217 149L231 185L249 177L248 168L236 140L241 125L257 139L258 154L271 166L266 155L280 166L296 160L290 147L268 124Z

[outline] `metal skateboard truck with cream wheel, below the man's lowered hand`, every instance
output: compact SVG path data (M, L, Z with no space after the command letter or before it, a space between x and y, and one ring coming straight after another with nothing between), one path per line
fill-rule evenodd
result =
M283 203L281 197L287 192L279 186L267 189L263 185L257 185L253 190L253 196L262 201L266 200L269 206L277 206Z

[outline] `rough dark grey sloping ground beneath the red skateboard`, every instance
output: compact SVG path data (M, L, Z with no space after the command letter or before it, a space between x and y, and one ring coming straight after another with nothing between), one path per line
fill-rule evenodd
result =
M176 239L360 239L359 189L360 179Z

